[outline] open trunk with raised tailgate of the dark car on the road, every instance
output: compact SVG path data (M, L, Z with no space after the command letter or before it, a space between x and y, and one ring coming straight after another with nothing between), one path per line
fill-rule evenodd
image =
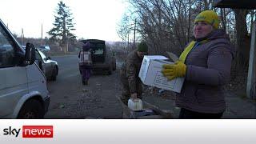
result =
M98 40L98 39L86 39L81 40L84 44L86 42L90 42L90 47L92 49L92 61L94 63L98 62L105 62L105 55L106 55L106 45L105 41Z

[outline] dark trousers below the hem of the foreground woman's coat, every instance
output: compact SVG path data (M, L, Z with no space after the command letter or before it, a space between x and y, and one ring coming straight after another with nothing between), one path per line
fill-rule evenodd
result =
M209 113L198 113L191 110L181 109L179 117L181 119L218 119L222 118L223 113L209 114Z

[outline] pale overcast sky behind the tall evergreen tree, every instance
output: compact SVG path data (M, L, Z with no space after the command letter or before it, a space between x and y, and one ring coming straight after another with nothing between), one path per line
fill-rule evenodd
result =
M126 10L124 0L62 0L70 7L74 17L74 34L78 38L97 38L121 41L118 22ZM25 37L43 38L53 27L54 14L59 0L1 0L0 18L12 33ZM56 14L55 14L56 15Z

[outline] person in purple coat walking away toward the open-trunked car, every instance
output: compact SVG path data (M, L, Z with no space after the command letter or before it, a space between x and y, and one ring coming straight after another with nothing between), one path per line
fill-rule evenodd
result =
M86 42L86 44L82 46L82 50L80 50L78 58L80 70L82 71L82 84L88 85L92 69L90 42Z

